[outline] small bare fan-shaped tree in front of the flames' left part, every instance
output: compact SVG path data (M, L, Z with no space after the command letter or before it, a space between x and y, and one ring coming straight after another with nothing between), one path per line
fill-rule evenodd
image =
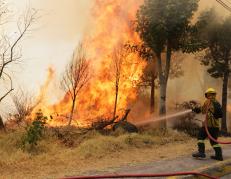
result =
M79 92L89 81L89 61L83 44L79 44L72 59L66 66L61 81L62 88L70 95L72 99L71 111L68 125L71 125L73 114L76 108L76 100Z

